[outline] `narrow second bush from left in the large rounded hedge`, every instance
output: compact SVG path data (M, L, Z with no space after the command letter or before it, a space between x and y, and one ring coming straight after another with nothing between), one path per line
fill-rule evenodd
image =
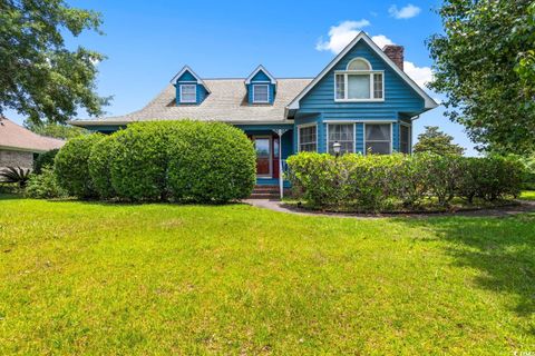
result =
M116 154L117 140L115 136L107 136L93 146L89 155L89 176L94 188L101 199L116 196L111 185L110 165Z

